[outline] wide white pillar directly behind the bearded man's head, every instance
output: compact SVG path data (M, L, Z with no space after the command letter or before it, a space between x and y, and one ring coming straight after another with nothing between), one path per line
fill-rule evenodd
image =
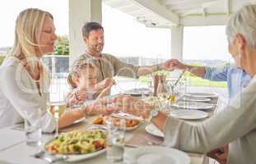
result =
M102 0L69 0L69 66L86 51L81 27L85 22L101 24Z

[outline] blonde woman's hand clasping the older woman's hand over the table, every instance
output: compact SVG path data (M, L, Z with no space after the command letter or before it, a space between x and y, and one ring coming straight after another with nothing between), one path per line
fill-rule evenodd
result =
M114 99L100 98L95 99L91 105L85 107L86 115L109 115L119 111L119 107L114 104Z

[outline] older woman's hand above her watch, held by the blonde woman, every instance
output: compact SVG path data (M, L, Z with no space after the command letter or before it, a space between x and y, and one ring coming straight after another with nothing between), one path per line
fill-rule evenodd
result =
M121 95L115 99L115 103L119 107L119 110L135 116L142 116L144 119L148 118L149 112L153 108L153 106L131 96Z

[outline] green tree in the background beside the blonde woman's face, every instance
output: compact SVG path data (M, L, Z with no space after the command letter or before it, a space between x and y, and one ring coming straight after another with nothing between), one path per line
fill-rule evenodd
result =
M58 36L54 47L55 55L69 55L69 40L67 35Z

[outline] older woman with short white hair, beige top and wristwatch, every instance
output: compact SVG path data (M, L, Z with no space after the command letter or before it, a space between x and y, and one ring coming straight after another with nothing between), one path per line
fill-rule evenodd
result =
M256 5L230 16L226 26L229 52L236 66L250 75L249 85L226 108L199 125L166 116L136 98L121 97L125 112L142 115L165 134L165 146L207 153L229 144L228 163L256 163Z

